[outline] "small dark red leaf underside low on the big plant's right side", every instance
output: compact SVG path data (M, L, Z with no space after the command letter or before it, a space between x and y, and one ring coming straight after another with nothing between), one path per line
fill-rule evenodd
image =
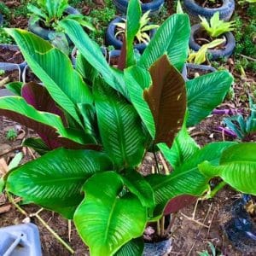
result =
M167 203L164 214L167 215L178 212L183 207L187 207L195 202L196 199L197 197L193 195L178 195Z

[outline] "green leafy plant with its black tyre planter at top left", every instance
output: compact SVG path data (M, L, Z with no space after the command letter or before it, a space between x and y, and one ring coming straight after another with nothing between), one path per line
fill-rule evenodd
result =
M94 30L88 18L81 15L77 9L68 5L68 0L38 0L38 4L28 3L28 11L32 14L28 20L28 29L45 40L54 41L60 37L58 22L63 19L77 20L82 26ZM61 38L65 41L66 38ZM67 42L71 44L67 37Z

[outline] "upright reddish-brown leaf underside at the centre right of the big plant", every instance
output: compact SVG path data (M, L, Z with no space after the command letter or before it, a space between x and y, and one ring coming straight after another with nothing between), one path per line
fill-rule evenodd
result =
M149 73L152 85L143 91L143 96L154 116L154 143L171 147L187 107L185 82L166 55L154 62Z

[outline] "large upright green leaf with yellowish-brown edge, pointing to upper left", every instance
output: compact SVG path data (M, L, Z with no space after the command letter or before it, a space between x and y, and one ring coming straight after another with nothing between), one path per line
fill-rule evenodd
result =
M6 31L15 39L32 72L41 79L55 102L82 125L76 104L92 103L92 97L68 56L31 32L20 29Z

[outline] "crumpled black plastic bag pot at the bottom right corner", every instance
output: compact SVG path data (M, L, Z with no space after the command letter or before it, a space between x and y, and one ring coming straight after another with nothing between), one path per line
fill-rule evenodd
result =
M234 247L244 253L256 253L256 223L246 211L245 196L224 209L222 227Z

